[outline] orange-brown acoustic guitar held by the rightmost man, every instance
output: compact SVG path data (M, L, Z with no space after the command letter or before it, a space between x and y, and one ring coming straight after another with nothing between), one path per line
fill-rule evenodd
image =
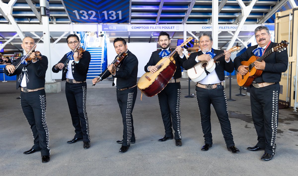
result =
M240 73L237 73L237 83L239 86L249 87L249 85L252 84L252 81L254 78L259 77L262 74L262 70L258 70L254 67L254 61L263 61L267 56L269 56L273 52L281 52L286 49L288 46L287 41L281 41L279 44L277 44L275 47L271 48L269 51L264 53L261 57L258 56L252 56L249 58L248 61L241 61L242 65L248 66L246 69L248 72L245 75L241 75Z

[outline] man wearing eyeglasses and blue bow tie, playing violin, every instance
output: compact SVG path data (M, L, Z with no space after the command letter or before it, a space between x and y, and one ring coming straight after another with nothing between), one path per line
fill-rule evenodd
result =
M77 35L70 34L67 36L66 42L72 51L66 53L58 64L53 66L52 71L58 73L62 70L62 81L66 80L65 94L72 117L72 125L75 127L75 137L67 143L72 144L83 140L83 148L88 149L90 136L86 112L86 77L91 55L88 51L84 51L80 59L77 52L73 53L80 42Z

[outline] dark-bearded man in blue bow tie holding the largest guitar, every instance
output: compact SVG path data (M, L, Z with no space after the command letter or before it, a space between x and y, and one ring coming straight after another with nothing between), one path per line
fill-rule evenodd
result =
M159 142L164 142L168 139L173 139L173 129L175 131L175 144L177 147L182 146L181 141L181 124L180 124L180 96L181 96L181 66L186 57L182 52L182 48L177 46L170 49L170 36L166 32L160 32L158 43L162 49L154 51L149 62L145 66L145 72L156 72L156 64L164 57L167 57L173 51L177 53L173 56L176 61L176 71L167 84L167 86L157 94L159 100L160 111L162 113L162 121L164 122L165 135L158 139Z

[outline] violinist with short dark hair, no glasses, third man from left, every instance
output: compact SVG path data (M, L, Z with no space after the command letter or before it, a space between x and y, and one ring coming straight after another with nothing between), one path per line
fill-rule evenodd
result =
M98 81L107 78L111 74L114 78L112 85L116 85L117 87L117 102L119 104L123 122L123 138L122 140L118 140L116 142L118 144L122 144L119 153L125 153L128 151L130 145L136 142L132 111L134 109L134 103L136 102L136 95L138 93L136 78L138 75L139 62L136 56L127 49L125 39L115 38L114 48L117 53L115 59L122 52L127 55L116 68L114 67L114 64L109 65L102 74L92 80L92 83L96 84Z

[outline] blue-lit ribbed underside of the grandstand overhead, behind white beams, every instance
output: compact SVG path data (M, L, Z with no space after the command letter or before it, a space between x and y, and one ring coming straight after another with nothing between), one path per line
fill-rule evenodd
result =
M9 3L10 0L0 0ZM239 0L218 1L218 24L238 24L242 18L242 8L238 4ZM251 1L241 1L245 6ZM211 24L212 23L212 0L131 0L130 1L129 24ZM274 23L275 12L281 8L292 8L296 6L297 0L258 0L252 11L247 16L244 24L267 24ZM50 24L69 24L72 23L63 1L49 0ZM284 9L285 10L285 9ZM17 24L41 24L39 0L16 0L13 5L12 16ZM0 15L0 24L10 23L3 15ZM33 32L33 33L32 33ZM24 32L26 36L38 38L39 33ZM196 36L200 31L192 31ZM114 37L123 37L129 42L157 42L159 32L108 32L110 41ZM183 39L183 32L168 32L173 45L177 39ZM13 37L16 32L1 32L0 41L3 43ZM51 42L58 39L63 32L51 32ZM66 35L67 36L67 35ZM66 38L64 36L63 38ZM229 32L218 34L218 47L225 49L227 42L232 38ZM238 39L246 41L253 36L253 31L241 31ZM187 33L187 37L191 37ZM62 38L60 42L65 40ZM238 39L236 42L238 42ZM20 37L15 37L4 50L21 50ZM176 45L176 44L175 44ZM196 46L196 44L195 44ZM171 46L172 47L172 46Z

